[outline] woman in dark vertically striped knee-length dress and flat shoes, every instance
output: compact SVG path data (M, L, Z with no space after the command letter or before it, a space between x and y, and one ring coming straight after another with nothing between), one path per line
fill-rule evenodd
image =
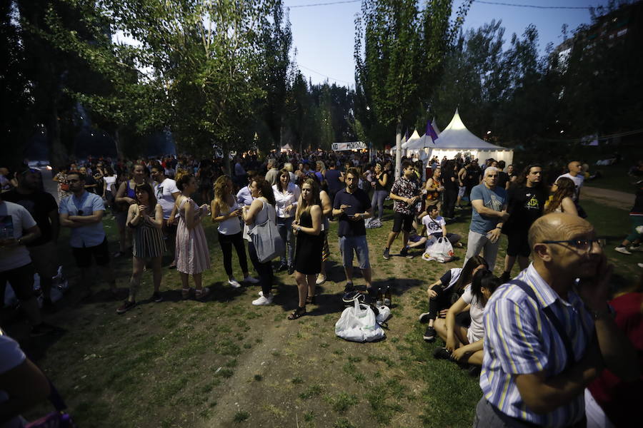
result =
M165 252L163 241L163 208L156 203L154 191L148 183L138 184L134 189L136 203L129 206L126 225L132 230L132 272L129 280L129 297L116 312L125 313L136 306L136 292L141 284L141 275L146 260L151 260L154 277L154 294L151 300L163 300L159 287L161 286L161 256Z

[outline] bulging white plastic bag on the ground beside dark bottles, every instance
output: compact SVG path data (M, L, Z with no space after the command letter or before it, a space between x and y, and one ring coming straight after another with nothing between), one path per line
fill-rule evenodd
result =
M357 299L347 307L335 323L335 335L351 342L373 342L384 338L384 330L377 324L375 313Z

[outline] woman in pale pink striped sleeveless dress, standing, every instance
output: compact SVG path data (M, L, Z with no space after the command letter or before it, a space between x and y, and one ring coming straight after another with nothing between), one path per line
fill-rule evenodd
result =
M189 275L194 278L194 295L201 299L210 290L201 285L201 273L210 268L210 253L206 241L201 218L208 215L209 205L200 207L191 200L190 195L196 192L198 185L194 175L186 174L176 182L181 195L176 198L174 210L179 214L179 227L176 229L176 270L181 274L184 299L190 295ZM174 214L174 213L173 213Z

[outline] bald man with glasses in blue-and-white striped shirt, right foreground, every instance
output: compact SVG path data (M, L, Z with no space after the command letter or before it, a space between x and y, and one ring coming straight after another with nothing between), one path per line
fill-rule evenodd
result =
M529 228L534 262L484 307L474 427L585 427L584 388L604 367L639 377L607 305L603 243L574 215L544 215Z

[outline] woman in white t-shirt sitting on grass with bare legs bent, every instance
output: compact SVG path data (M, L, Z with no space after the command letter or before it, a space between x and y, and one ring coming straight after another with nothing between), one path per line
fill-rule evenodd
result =
M482 341L484 324L482 315L484 305L501 284L489 270L479 270L474 274L473 282L464 290L462 297L449 308L446 320L436 320L435 330L446 342L447 347L439 347L433 353L438 359L452 360L482 366ZM471 325L469 328L456 323L456 315L469 310Z

